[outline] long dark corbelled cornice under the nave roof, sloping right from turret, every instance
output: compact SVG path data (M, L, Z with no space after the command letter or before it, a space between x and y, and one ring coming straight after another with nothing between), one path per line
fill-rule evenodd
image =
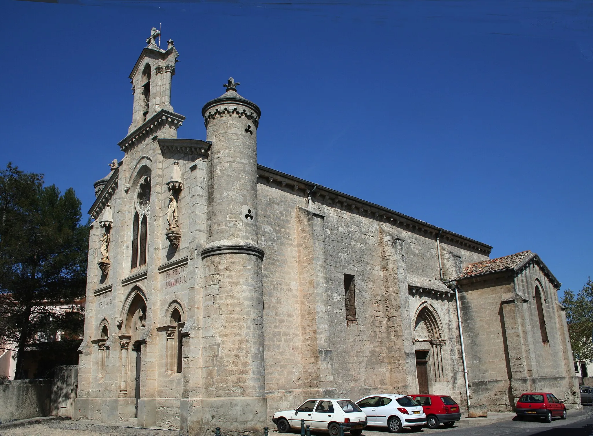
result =
M436 238L440 233L441 242L448 242L451 245L457 245L461 248L471 249L480 254L490 255L492 246L475 239L466 238L457 233L449 232L441 227L433 226L424 221L401 214L387 207L352 197L352 195L340 193L330 188L314 184L313 182L267 168L263 165L257 165L257 177L259 183L264 183L275 188L285 188L292 190L295 194L304 194L307 198L311 194L315 201L323 201L326 205L332 205L352 213L358 213L380 222L390 223L410 232L419 233L423 236Z

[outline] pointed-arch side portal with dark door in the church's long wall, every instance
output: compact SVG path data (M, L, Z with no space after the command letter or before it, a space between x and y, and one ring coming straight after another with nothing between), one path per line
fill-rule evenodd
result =
M414 317L416 376L420 393L429 393L432 383L445 380L442 346L442 323L428 302L420 304Z

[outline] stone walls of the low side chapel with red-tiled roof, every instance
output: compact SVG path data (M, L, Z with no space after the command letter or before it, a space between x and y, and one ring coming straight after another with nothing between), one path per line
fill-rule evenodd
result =
M535 284L543 301L549 342L540 332ZM514 277L508 271L460 285L461 316L471 402L490 411L512 411L522 393L551 392L579 408L566 319L556 290L540 268Z

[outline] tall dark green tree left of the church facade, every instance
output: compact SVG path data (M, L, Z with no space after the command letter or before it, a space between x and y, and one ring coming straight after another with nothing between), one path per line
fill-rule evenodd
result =
M84 297L88 229L81 201L69 188L43 186L43 175L10 163L0 171L0 344L17 344L15 378L25 349L56 331L76 336L84 319L76 310L52 309Z

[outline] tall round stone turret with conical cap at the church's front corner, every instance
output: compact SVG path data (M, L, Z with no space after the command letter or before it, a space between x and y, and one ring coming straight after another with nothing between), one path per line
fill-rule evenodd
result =
M202 109L208 159L206 247L202 250L202 421L209 428L251 431L266 425L264 380L264 252L257 246L257 127L260 109L227 92ZM213 303L214 302L214 303Z

